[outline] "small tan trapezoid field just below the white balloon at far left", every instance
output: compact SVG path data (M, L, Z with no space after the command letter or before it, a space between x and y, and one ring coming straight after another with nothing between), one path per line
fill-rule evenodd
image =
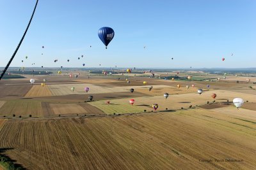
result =
M42 87L41 85L33 85L25 97L43 97L43 96L52 96L51 91L49 90L48 85Z

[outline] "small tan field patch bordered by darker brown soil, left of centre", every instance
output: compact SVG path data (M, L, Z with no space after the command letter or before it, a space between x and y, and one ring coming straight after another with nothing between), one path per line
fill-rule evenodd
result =
M79 106L79 104L50 104L51 109L54 111L54 114L72 114L72 113L87 113L83 107Z

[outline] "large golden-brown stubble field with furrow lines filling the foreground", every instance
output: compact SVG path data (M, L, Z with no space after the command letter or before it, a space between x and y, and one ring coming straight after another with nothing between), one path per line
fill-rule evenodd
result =
M28 169L253 169L256 118L251 114L230 117L198 109L8 120L0 147L13 148L4 154Z

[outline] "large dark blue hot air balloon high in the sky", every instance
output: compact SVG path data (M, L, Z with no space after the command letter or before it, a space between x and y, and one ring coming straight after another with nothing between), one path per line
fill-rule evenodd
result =
M100 40L102 41L102 43L104 43L104 45L106 45L106 49L107 49L108 44L115 36L115 32L110 27L102 27L98 31L98 36L99 36Z

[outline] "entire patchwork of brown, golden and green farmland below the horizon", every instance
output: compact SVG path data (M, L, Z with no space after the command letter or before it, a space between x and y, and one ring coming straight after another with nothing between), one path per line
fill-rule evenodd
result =
M256 91L251 83L130 76L128 84L124 76L87 80L86 73L80 79L56 74L33 78L34 85L0 81L7 89L0 94L1 154L26 169L253 169L256 163ZM201 95L198 88L204 89ZM239 110L234 97L244 99ZM135 99L133 106L129 99ZM203 159L243 162L199 161Z

